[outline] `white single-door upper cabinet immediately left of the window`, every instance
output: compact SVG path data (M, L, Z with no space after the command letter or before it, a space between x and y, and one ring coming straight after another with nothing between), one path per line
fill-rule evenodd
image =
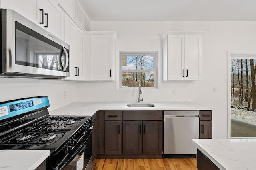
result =
M114 31L85 31L86 80L114 81L115 40Z

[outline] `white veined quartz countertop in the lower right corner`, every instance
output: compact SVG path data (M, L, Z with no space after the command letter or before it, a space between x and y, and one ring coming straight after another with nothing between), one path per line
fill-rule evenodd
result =
M256 170L256 139L192 139L221 170Z

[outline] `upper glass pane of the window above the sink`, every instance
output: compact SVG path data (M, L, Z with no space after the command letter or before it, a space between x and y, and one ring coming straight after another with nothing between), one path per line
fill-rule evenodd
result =
M122 55L122 70L154 70L154 55Z

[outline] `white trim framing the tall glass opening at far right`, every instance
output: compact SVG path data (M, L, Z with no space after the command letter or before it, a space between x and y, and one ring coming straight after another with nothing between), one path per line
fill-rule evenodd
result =
M230 103L230 92L231 92L231 59L256 59L256 51L228 51L227 52L227 73L228 73L228 87L227 87L227 101L228 101L228 138L231 138L231 103ZM244 138L244 137L243 137Z

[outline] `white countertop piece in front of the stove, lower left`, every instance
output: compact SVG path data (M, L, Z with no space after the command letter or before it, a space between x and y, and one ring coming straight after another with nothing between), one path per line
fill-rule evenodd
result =
M0 169L34 170L48 156L50 150L0 150Z

